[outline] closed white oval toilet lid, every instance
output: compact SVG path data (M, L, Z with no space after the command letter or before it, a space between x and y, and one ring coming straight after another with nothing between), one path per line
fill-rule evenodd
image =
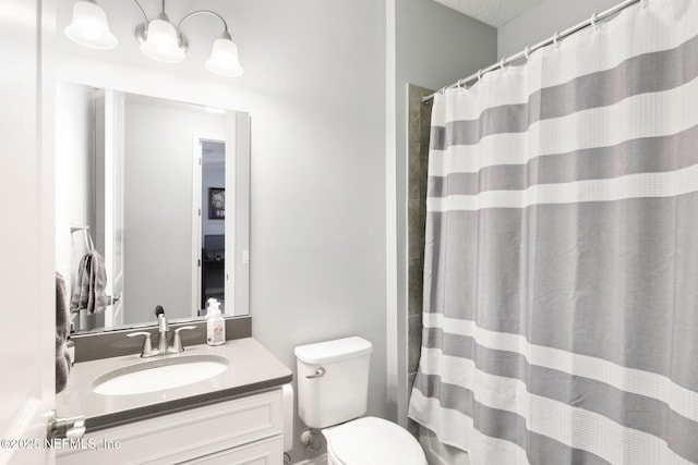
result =
M327 444L346 465L426 465L419 442L382 418L359 418L333 428Z

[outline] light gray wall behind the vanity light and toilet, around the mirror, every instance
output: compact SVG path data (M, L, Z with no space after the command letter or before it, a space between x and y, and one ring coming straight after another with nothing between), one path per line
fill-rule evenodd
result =
M100 2L120 46L58 37L61 77L252 117L253 335L296 368L296 345L350 334L374 344L369 413L385 416L385 13L375 0L168 2L179 20L213 9L229 22L245 74L210 75L213 17L183 26L190 52L167 65L133 39L130 2ZM145 2L152 12L159 2ZM58 29L72 2L59 5ZM297 423L297 438L300 424ZM297 441L293 461L305 457Z

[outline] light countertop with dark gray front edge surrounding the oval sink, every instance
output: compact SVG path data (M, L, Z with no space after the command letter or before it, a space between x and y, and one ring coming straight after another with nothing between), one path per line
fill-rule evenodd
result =
M93 392L95 379L111 370L191 355L218 355L226 357L230 366L213 378L164 391L130 395ZM292 379L291 370L254 339L236 339L217 346L184 347L181 354L151 358L134 354L77 363L71 369L65 390L56 395L56 413L59 417L84 415L89 432L279 387Z

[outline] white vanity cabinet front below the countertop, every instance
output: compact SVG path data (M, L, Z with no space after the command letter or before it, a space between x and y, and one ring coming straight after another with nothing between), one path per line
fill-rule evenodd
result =
M281 389L88 432L57 450L59 465L281 465Z

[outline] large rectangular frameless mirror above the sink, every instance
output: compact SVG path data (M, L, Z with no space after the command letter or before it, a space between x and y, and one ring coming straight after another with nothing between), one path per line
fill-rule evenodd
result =
M208 298L249 315L249 115L67 82L56 109L57 269L75 329L153 322L157 305L201 318ZM106 282L91 299L94 252Z

